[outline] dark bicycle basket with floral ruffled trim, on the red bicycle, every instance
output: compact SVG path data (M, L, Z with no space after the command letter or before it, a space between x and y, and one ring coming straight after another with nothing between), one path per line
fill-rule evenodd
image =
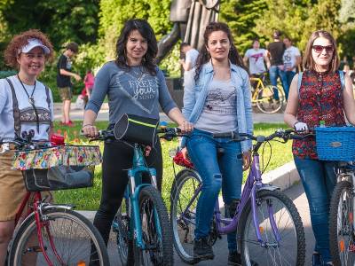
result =
M12 168L22 171L28 192L43 192L91 187L100 163L99 146L60 145L17 151Z

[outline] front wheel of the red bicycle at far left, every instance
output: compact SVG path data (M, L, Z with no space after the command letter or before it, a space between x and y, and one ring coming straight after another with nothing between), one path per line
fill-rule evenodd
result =
M105 242L99 231L87 218L75 211L61 208L43 210L43 215L48 218L51 241L65 265L79 265L80 262L85 265L89 265L89 263L100 266L109 265ZM39 248L36 229L34 215L20 225L19 231L13 239L9 265L47 264ZM52 251L47 231L44 228L42 233L43 245L51 262L53 265L62 265ZM94 248L94 253L91 252L93 250L91 248ZM93 262L92 258L96 261Z

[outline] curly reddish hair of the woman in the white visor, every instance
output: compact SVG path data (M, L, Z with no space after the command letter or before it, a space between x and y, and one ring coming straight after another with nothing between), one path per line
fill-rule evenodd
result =
M29 39L38 39L43 45L47 46L50 50L49 54L45 54L46 60L53 59L53 45L51 41L38 29L30 29L28 31L20 33L20 35L14 35L11 42L7 45L6 50L4 51L4 61L7 66L12 66L13 68L19 68L19 63L17 59L19 57L19 51L23 46L28 44Z

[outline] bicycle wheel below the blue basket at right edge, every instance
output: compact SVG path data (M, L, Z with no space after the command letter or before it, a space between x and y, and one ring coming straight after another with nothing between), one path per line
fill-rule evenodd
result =
M341 181L335 186L329 211L329 249L335 265L354 265L355 234L352 227L353 215L352 184ZM349 219L348 219L349 218Z

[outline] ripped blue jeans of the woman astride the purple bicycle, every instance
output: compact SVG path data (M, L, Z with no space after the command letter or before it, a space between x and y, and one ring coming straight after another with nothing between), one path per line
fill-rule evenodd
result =
M217 149L223 148L217 157ZM214 207L222 187L223 200L230 204L241 199L242 154L241 144L227 138L213 138L212 134L193 129L187 140L187 151L202 178L202 190L196 207L195 239L209 235ZM236 250L235 233L227 235L228 249Z

